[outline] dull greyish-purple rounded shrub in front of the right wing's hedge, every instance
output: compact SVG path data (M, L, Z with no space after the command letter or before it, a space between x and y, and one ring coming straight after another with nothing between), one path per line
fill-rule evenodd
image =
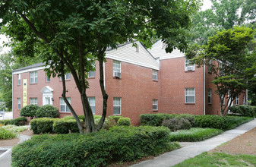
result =
M171 131L191 128L191 124L185 118L165 119L163 120L162 126L169 128Z

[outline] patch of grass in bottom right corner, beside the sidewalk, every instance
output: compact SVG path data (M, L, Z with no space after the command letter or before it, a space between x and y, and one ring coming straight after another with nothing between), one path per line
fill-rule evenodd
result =
M187 166L256 166L256 156L238 155L232 156L226 153L202 153L194 158L187 159L175 167Z

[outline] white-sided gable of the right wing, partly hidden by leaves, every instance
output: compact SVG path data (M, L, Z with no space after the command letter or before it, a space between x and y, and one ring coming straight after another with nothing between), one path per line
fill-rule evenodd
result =
M148 50L153 55L153 57L160 58L160 60L185 57L185 53L180 52L179 49L174 49L171 53L166 53L166 49L163 48L162 39L154 43L152 49Z

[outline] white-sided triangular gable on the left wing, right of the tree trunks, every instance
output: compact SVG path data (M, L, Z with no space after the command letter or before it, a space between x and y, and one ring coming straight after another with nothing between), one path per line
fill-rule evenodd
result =
M160 68L156 58L153 58L153 55L151 55L141 43L136 43L137 46L139 46L139 52L136 52L136 47L132 46L132 43L128 43L124 46L118 47L118 49L106 51L106 58L159 70Z

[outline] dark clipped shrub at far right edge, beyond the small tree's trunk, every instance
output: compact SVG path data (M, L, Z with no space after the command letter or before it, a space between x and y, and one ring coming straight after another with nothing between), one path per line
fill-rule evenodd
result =
M256 117L256 106L231 106L229 109L233 114Z

